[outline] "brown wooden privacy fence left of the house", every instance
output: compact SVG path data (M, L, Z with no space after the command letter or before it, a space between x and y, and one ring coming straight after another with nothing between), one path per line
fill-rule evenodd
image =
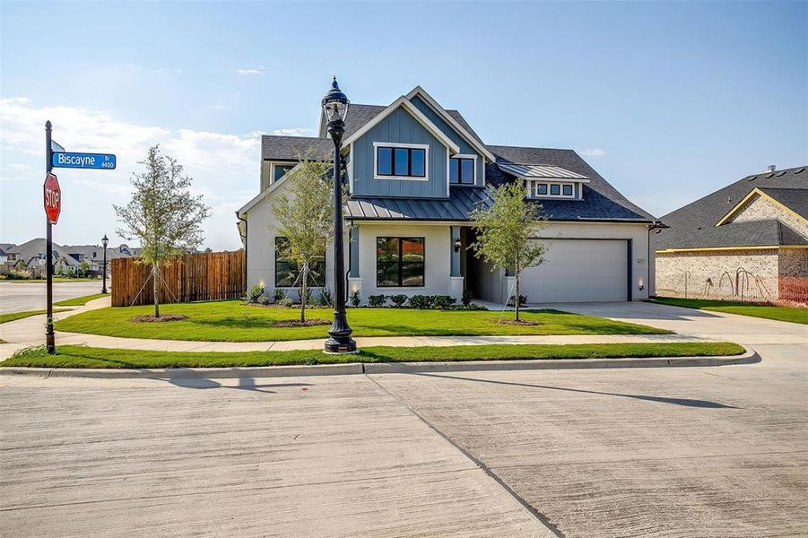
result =
M112 260L112 306L154 303L152 265L137 258ZM160 267L161 304L195 300L238 299L246 290L244 250L175 256Z

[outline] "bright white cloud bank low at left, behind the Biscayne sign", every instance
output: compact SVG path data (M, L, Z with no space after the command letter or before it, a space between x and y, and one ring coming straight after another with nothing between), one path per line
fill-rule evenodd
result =
M68 152L108 152L115 170L56 169L65 205L55 229L60 243L92 242L118 222L112 204L126 204L129 180L142 169L146 150L161 144L194 178L195 193L213 207L205 221L204 247L239 248L233 211L256 195L260 133L227 134L143 126L109 112L74 107L37 107L24 98L0 99L0 239L22 243L42 237L45 121Z

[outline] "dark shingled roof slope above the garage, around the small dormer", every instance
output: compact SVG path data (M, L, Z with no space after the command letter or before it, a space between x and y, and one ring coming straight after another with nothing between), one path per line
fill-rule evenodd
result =
M514 164L541 163L589 179L589 183L582 185L581 200L541 201L543 213L551 221L656 221L651 213L631 204L573 150L498 145L489 145L488 149L497 157L496 163L485 169L488 183L494 186L517 177L500 169L500 165L508 169Z

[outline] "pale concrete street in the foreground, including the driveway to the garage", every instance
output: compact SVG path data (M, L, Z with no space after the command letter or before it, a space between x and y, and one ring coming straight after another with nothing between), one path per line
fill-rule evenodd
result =
M804 325L760 364L378 376L0 377L0 529L64 535L801 536ZM688 321L689 320L689 321ZM770 343L777 341L778 343Z

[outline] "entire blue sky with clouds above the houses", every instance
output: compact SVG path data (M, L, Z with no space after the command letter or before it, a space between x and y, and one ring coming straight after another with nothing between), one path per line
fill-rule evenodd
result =
M421 84L493 144L569 147L662 215L769 164L808 164L808 4L0 4L0 241L44 233L42 125L118 169L61 170L55 239L117 242L111 203L160 142L239 247L260 133L314 134Z

